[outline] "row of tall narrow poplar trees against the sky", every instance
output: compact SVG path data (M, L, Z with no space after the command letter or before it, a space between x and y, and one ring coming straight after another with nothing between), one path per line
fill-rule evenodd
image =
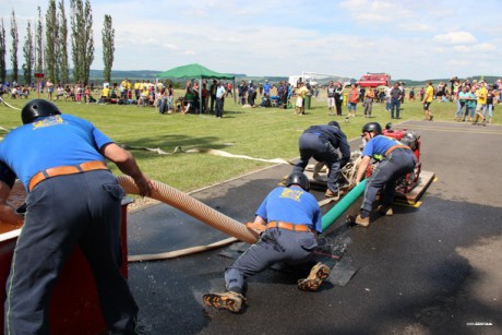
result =
M57 4L56 0L48 1L45 22L40 7L35 26L28 20L23 45L24 63L23 79L26 84L34 80L35 73L44 73L53 83L88 83L91 64L94 61L93 15L89 0L70 0L70 46L73 68L70 74L68 55L68 20L64 0ZM19 33L14 10L11 16L11 80L19 82ZM103 59L105 80L110 81L115 52L115 29L111 16L105 15L101 33ZM0 82L7 79L7 39L3 17L0 21ZM71 75L71 77L70 77ZM70 80L71 79L71 80Z

